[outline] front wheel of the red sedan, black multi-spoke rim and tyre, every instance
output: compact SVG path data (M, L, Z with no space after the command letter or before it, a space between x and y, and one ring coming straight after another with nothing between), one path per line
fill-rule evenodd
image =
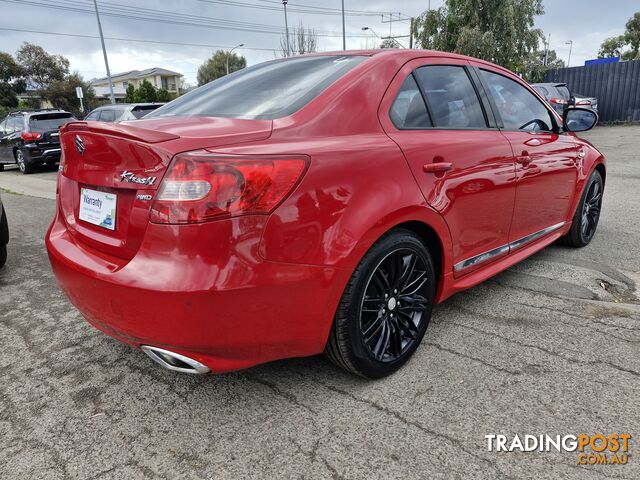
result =
M602 175L594 170L586 183L580 203L578 203L573 215L571 229L561 239L563 244L571 247L589 245L598 228L603 192Z

